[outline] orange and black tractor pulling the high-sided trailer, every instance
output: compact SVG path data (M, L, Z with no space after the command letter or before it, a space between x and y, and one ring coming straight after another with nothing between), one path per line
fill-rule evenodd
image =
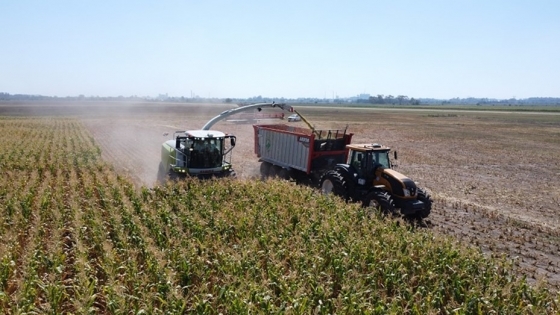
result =
M423 219L432 209L432 198L405 175L395 171L389 147L374 144L348 144L347 162L326 172L320 182L324 194L335 194L364 207L380 208L383 213L400 213ZM393 154L397 159L397 152Z

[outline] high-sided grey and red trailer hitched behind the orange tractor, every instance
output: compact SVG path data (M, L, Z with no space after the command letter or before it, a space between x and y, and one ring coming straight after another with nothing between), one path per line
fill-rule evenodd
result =
M310 180L321 176L338 163L346 163L346 145L352 133L346 130L311 130L285 124L256 124L255 154L261 162L263 177Z

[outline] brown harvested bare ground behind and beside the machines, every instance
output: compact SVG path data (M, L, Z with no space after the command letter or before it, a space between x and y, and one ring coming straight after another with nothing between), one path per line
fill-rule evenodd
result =
M84 103L17 107L17 115L79 117L103 158L139 186L156 183L161 144L199 129L235 105ZM8 107L0 105L0 116ZM13 110L13 109L12 109ZM277 109L272 109L273 111ZM398 151L397 170L434 198L429 228L515 262L530 283L560 290L560 115L555 113L301 107L319 129L344 129L353 142ZM277 123L278 121L274 121ZM264 122L263 122L264 123ZM284 122L287 123L287 122ZM305 127L303 122L290 123ZM253 127L222 121L237 136L241 180L258 174Z

